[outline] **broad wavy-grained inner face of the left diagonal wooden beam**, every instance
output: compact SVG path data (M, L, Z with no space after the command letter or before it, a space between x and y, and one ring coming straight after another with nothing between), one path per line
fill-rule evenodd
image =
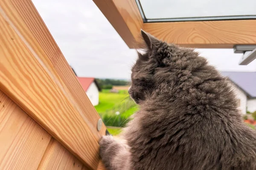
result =
M100 134L73 100L47 55L41 53L41 46L33 44L38 46L35 51L24 39L21 32L30 34L26 25L15 27L6 15L3 9L15 12L9 5L9 1L0 1L0 89L85 166L96 169ZM12 19L20 22L17 16Z

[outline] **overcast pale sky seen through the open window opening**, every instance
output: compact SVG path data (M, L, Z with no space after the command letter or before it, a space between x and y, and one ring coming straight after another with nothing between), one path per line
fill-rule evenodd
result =
M137 55L129 49L93 0L32 0L78 76L130 78ZM233 49L198 49L221 71L256 71L256 61L239 66Z

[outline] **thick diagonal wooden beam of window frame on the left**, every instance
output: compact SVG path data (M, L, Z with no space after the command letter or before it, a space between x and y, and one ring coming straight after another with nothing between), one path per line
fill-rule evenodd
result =
M0 0L0 89L96 169L103 125L31 0Z

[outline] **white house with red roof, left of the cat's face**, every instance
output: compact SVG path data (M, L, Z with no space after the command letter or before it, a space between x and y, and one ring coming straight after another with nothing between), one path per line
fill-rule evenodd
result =
M82 85L84 91L86 92L86 95L90 99L93 106L96 106L99 104L99 85L96 82L95 78L84 78L84 77L78 77L78 80L80 84Z

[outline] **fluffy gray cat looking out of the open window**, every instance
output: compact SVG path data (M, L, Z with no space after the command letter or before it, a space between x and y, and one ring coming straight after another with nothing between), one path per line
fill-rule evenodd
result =
M121 139L100 141L107 170L253 170L256 131L227 78L193 49L141 30L129 94L140 105Z

